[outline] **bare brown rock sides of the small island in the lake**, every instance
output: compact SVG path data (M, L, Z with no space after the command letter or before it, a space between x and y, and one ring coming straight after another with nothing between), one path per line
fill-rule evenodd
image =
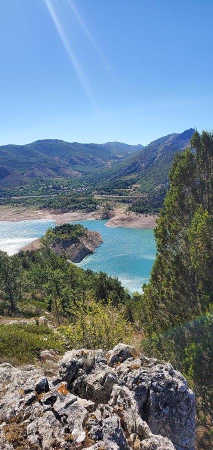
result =
M67 259L72 262L80 262L87 255L94 253L95 249L103 242L98 231L85 228L84 234L77 238L61 239L57 237L49 246L57 254L65 252ZM35 239L25 245L22 250L36 250L41 247L40 239Z

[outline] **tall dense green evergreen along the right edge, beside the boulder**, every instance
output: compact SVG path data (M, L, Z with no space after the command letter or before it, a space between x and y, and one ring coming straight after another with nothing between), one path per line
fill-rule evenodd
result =
M213 365L213 134L196 131L176 154L157 219L156 259L144 294L129 310L150 355L169 360L196 393L198 423L209 429ZM153 313L154 311L154 313Z

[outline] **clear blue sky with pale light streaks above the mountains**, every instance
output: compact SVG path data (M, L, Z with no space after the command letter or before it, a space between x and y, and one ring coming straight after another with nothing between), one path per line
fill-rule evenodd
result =
M0 144L212 128L212 0L1 0Z

